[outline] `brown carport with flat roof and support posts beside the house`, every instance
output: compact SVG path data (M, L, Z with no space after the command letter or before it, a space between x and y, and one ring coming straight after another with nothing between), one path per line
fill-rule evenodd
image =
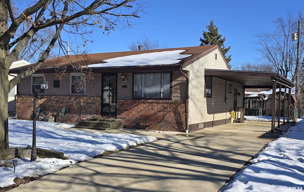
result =
M242 85L244 90L243 107L245 107L244 95L246 88L271 88L273 95L276 94L276 89L279 89L280 93L282 89L285 89L285 94L283 98L284 99L283 110L286 110L287 108L288 110L287 121L289 121L291 97L287 99L286 92L287 89L288 92L290 92L291 88L294 87L295 84L289 79L283 77L282 75L277 74L275 72L251 72L251 71L219 70L219 69L205 69L205 75L210 75L220 79L230 80ZM278 106L277 106L276 99L274 98L275 97L272 97L271 132L273 132L275 128L276 108L278 108L278 111L281 110L280 102L278 102ZM278 128L280 127L279 119L280 119L280 113L278 113ZM285 124L285 113L283 116L283 124Z

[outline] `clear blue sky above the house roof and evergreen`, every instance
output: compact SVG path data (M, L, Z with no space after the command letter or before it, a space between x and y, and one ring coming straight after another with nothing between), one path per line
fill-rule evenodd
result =
M304 7L303 0L147 0L146 14L134 18L131 29L116 28L108 36L102 30L94 31L90 53L129 51L132 41L147 36L169 48L199 46L202 30L207 30L213 19L219 33L226 37L225 46L231 46L230 64L255 63L261 55L254 51L256 33L275 30L272 23L290 11L294 16ZM71 44L73 46L73 44Z

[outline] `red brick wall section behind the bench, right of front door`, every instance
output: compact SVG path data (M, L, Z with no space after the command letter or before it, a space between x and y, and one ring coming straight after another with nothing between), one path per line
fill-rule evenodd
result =
M134 127L140 114L164 114L165 131L185 132L185 101L117 100L117 103L117 117L125 120L126 127ZM151 124L146 129L159 130L159 125Z

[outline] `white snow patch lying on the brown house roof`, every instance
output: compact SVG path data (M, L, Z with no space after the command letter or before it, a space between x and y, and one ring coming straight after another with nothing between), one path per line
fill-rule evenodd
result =
M161 51L153 53L143 53L137 55L129 55L105 59L106 63L98 63L88 65L88 67L125 67L125 66L141 66L141 65L170 65L176 64L180 59L191 56L190 54L180 54L186 50Z

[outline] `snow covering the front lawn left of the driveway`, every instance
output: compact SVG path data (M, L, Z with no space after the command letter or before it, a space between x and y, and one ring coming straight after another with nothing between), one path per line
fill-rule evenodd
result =
M14 183L16 177L35 177L46 175L71 166L78 161L92 159L105 151L123 150L131 145L156 141L152 136L134 134L91 133L87 131L73 131L65 128L71 124L52 122L36 122L36 146L63 152L68 160L56 158L38 158L30 162L30 158L18 159L16 173L14 167L0 167L0 187ZM9 120L9 146L27 147L32 145L33 121Z

